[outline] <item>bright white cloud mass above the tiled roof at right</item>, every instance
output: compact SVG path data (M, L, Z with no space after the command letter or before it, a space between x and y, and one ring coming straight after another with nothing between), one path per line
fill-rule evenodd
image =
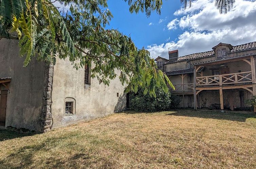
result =
M212 50L219 42L238 45L256 41L256 1L236 0L232 10L219 14L213 0L196 0L191 8L177 10L168 30L181 29L177 41L147 46L151 56L168 58L168 48L184 56ZM179 19L178 19L179 18ZM175 37L171 37L175 38Z

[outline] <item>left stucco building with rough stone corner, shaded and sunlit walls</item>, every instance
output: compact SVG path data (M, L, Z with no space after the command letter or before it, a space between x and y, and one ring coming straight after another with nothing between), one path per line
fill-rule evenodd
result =
M17 40L1 39L0 46L2 127L44 132L126 107L118 78L105 86L90 78L90 68L76 70L60 59L54 67L33 59L24 68Z

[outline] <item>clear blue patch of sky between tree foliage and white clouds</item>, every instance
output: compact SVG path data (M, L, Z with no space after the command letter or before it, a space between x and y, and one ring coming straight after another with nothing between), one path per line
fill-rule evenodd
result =
M130 35L140 49L150 44L165 42L169 37L168 41L174 41L178 34L182 33L181 30L168 31L166 28L168 21L175 18L173 13L182 5L179 0L164 0L161 15L154 12L149 18L145 13L131 14L127 2L121 0L109 0L108 5L114 17L107 28L118 29L125 35ZM150 23L152 25L149 25Z

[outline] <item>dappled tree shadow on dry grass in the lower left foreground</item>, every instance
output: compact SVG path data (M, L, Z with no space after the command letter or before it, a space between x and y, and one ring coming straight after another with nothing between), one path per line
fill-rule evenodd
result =
M42 134L40 134L42 135ZM97 147L97 144L105 144L97 136L81 136L79 132L71 132L61 136L41 136L29 145L20 145L12 149L12 152L4 158L0 158L0 168L91 168L100 162L98 168L107 168L112 164L104 157L95 158L93 150L79 147L76 139L86 137L87 141ZM98 142L97 142L98 141ZM96 149L96 148L95 148ZM59 153L62 151L63 154ZM69 153L73 152L73 153Z

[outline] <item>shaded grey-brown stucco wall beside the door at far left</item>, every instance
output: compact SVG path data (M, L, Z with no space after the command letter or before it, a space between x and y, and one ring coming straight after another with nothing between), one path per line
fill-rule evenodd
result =
M11 77L6 127L38 130L43 105L44 63L33 59L23 67L17 40L0 40L0 77ZM2 90L4 86L1 85Z

